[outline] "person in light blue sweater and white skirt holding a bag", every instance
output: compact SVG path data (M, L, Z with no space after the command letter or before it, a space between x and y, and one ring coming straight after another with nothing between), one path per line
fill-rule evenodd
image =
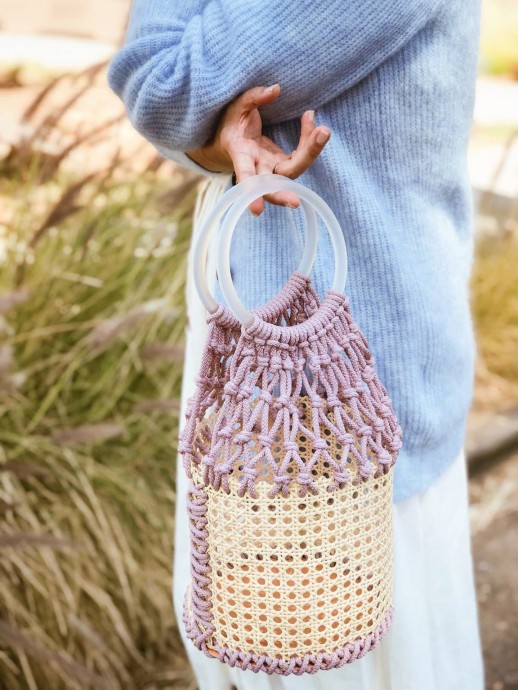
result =
M194 235L218 196L251 175L300 178L322 196L343 228L351 309L404 439L395 620L379 647L340 669L270 677L186 641L200 690L483 690L463 450L476 350L466 157L479 16L478 0L133 0L109 84L137 131L207 178ZM265 195L239 222L231 267L248 308L296 267L303 223L286 207L299 204L291 192ZM321 232L312 273L321 296L332 272ZM193 294L189 321L184 403L203 326ZM179 620L184 494L180 467Z

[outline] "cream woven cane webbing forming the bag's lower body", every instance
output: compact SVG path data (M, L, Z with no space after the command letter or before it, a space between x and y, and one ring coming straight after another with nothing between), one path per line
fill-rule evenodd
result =
M200 434L210 426L205 419ZM326 432L331 454L339 457L340 444ZM280 459L282 434L275 441L272 452ZM306 439L297 442L309 459ZM351 464L357 479L328 492L326 465L313 467L319 493L304 498L295 483L288 497L268 498L266 465L256 498L238 496L238 463L228 494L203 486L192 465L208 498L212 644L272 658L317 655L364 640L386 619L393 588L393 469L361 480Z

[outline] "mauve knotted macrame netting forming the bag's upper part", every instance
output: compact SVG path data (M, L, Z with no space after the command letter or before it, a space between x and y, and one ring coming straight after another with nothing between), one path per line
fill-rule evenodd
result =
M287 295L279 299L283 298ZM282 318L282 309L277 312ZM254 496L259 467L266 464L273 476L270 496L278 491L287 496L292 482L297 482L304 496L308 490L317 492L311 471L321 458L329 463L332 475L328 490L348 481L357 483L394 464L401 431L347 297L329 291L317 313L288 327L256 316L237 343L235 317L224 307L209 323L214 326L207 338L200 391L188 411L181 441L187 471L190 462L200 463L204 480L226 491L228 477L239 462L240 495L249 491ZM307 398L311 410L307 419L302 418L301 397ZM195 430L209 410L215 412L214 405L217 418L200 457ZM328 452L326 429L343 446L340 462ZM280 431L285 451L281 463L271 452ZM300 457L299 432L311 443L309 461ZM250 450L252 439L259 446L255 452ZM355 476L349 469L352 459Z

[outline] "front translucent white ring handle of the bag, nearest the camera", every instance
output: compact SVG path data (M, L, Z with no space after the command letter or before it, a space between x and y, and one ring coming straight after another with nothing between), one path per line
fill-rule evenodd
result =
M340 223L322 197L303 184L294 182L289 177L273 175L271 173L247 177L237 184L234 189L236 191L239 190L239 198L223 220L216 261L218 280L223 297L231 311L246 328L252 325L254 315L243 305L232 282L230 274L230 244L242 213L252 201L264 194L292 191L298 194L301 201L308 202L318 212L327 226L335 254L335 276L332 288L336 292L344 291L347 280L347 249L345 240Z

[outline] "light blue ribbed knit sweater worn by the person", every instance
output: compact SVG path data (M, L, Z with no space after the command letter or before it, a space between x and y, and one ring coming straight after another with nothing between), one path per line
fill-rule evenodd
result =
M479 0L133 0L108 79L134 127L165 156L211 139L225 106L281 85L262 108L286 152L315 109L331 140L299 178L331 206L349 251L347 294L403 429L395 501L462 449L474 339L468 278L472 198L466 150ZM295 221L295 222L294 222ZM232 271L245 304L277 292L301 253L302 214L247 212ZM323 295L333 258L320 233Z

